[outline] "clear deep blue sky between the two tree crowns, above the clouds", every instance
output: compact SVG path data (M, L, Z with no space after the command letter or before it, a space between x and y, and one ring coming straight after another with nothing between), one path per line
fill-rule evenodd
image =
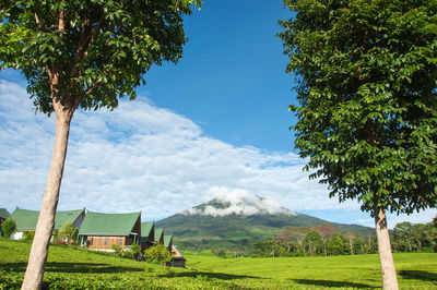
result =
M152 69L144 92L224 142L292 150L292 78L276 37L288 16L281 0L205 1L186 19L181 61Z

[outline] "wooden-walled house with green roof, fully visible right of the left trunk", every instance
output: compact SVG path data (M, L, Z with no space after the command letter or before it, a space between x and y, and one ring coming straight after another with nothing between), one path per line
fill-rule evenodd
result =
M113 244L121 249L141 242L141 212L102 214L87 212L79 229L82 245L99 251L111 251Z

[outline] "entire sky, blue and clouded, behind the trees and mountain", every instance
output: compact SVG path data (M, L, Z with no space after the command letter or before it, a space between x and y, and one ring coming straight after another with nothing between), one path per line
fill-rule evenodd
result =
M205 1L185 22L184 58L153 68L138 99L72 121L60 209L142 210L161 219L220 196L257 194L330 221L371 226L302 171L294 152L293 78L275 36L280 0ZM0 207L39 209L55 134L25 80L0 72ZM427 222L435 209L389 225Z

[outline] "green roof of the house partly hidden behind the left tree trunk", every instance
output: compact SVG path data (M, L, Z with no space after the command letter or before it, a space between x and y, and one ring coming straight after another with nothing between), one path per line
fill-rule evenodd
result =
M73 223L85 209L56 212L55 230L60 230L67 222ZM33 231L38 221L39 212L16 208L9 219L16 223L16 231Z

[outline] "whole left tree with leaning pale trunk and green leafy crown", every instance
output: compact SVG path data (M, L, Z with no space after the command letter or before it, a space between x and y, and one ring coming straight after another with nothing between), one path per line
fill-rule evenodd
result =
M0 1L1 69L20 70L37 111L56 116L54 155L23 289L42 286L70 122L78 108L135 98L145 72L181 58L182 16L200 0Z

